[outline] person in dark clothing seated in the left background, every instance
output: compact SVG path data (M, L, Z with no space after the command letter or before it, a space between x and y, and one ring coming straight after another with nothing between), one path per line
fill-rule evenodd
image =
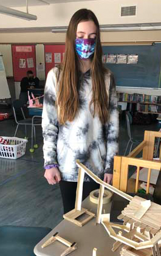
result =
M29 89L39 88L39 78L34 77L32 71L27 71L27 77L22 78L20 87L19 100L26 104L28 100L27 91Z

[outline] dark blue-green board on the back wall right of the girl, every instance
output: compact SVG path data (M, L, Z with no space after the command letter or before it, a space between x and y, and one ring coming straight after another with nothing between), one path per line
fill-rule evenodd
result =
M103 46L104 55L137 55L137 64L109 64L117 86L161 88L161 44L145 46Z

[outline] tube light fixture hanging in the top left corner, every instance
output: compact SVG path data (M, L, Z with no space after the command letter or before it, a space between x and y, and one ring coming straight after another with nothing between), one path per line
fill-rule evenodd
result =
M28 5L27 5L27 10L28 10ZM16 18L20 18L20 19L27 19L27 21L37 19L36 15L32 15L28 12L26 13L26 12L21 12L21 11L15 10L15 9L11 9L11 8L5 7L3 5L0 5L0 13L9 15L9 16L13 16Z

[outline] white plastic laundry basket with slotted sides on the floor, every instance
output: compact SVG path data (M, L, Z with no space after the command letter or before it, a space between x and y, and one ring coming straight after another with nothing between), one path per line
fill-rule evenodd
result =
M10 145L0 144L0 157L8 159L18 159L24 156L26 151L26 143L28 140L20 139L18 137L4 137Z

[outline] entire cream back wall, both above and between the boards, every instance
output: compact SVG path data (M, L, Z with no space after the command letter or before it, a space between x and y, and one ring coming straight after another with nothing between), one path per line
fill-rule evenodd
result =
M121 6L137 5L137 15L121 17ZM86 2L69 2L66 4L51 4L29 7L29 12L38 16L37 21L25 21L0 14L0 29L25 28L25 27L53 27L67 26L75 11L87 8L94 11L100 24L124 24L138 22L160 22L160 0L100 0ZM15 8L26 12L25 8ZM11 31L12 32L12 31ZM43 43L64 43L65 33L36 32L26 33L0 33L0 52L3 55L7 76L13 75L12 43L38 43L36 45L36 63L44 63ZM161 41L161 31L129 31L129 32L104 32L101 41ZM40 79L45 78L45 72L39 72Z

